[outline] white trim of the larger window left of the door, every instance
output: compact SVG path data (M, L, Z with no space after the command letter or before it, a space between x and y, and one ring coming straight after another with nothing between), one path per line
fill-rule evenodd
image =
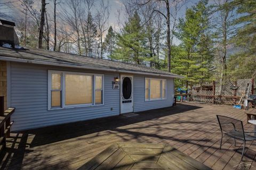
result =
M52 73L61 74L61 107L51 107L51 86L52 86ZM92 103L91 104L77 104L77 105L65 105L65 75L66 74L74 74L74 75L91 75L92 76ZM102 77L102 104L95 104L95 77ZM47 75L47 109L48 111L65 109L65 108L78 108L78 107L91 107L91 106L103 106L104 103L104 74L93 74L93 73L83 73L83 72L69 72L69 71L55 71L48 70Z

